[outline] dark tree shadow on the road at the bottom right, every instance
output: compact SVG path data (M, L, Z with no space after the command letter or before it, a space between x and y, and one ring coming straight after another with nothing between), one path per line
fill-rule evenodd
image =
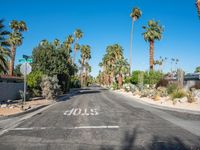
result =
M184 141L182 138L177 136L157 136L153 135L150 141L145 141L145 139L139 139L139 141L144 141L139 143L138 140L139 130L134 128L131 131L125 131L124 137L119 145L101 145L93 146L92 150L198 150L200 149L200 142L189 143L192 141ZM156 133L155 133L156 134ZM137 141L137 142L136 142ZM200 141L200 138L196 141ZM187 144L186 144L187 143ZM87 150L90 150L87 148ZM79 150L86 150L80 146Z

